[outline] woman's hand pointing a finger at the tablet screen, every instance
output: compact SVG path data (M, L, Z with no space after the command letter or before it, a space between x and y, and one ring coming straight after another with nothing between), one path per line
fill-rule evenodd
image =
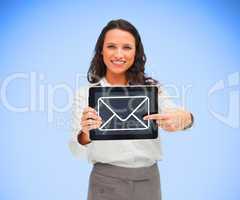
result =
M181 109L168 110L163 114L146 115L144 120L156 120L158 127L173 132L183 130L191 124L191 113Z

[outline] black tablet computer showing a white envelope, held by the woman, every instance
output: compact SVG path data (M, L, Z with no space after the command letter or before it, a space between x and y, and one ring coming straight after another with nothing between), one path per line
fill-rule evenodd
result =
M158 113L157 86L94 86L89 88L88 102L102 118L101 126L90 130L91 140L157 138L155 120L143 120Z

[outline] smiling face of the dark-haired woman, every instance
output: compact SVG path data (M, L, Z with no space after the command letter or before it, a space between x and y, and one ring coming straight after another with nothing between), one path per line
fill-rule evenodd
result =
M109 30L105 34L102 55L107 73L124 74L134 63L135 38L127 31Z

